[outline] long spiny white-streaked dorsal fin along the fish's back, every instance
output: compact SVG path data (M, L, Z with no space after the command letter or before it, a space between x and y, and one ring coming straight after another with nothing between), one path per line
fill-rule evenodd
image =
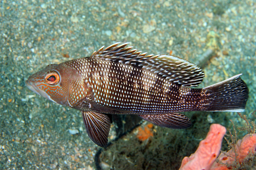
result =
M171 55L146 55L127 44L115 43L105 49L102 46L90 57L143 68L181 86L198 86L202 82L204 72L196 64Z

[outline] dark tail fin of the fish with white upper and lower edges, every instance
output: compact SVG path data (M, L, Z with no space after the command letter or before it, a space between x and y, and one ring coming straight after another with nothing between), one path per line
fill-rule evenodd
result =
M205 106L207 111L244 111L249 89L240 75L242 74L202 89L202 92L208 96Z

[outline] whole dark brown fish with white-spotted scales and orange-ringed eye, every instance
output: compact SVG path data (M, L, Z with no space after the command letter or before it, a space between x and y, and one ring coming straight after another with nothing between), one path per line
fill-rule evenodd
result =
M194 88L205 76L196 64L127 45L118 42L90 57L50 64L30 75L25 85L80 110L88 137L100 147L108 145L112 114L136 114L161 127L183 129L191 121L180 112L245 110L249 89L242 74Z

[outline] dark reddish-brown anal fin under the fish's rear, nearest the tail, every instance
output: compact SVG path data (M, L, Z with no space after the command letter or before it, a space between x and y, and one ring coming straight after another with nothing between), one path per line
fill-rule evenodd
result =
M147 114L139 115L142 119L149 121L161 127L171 129L185 129L191 126L190 119L184 114L169 113L169 114Z

